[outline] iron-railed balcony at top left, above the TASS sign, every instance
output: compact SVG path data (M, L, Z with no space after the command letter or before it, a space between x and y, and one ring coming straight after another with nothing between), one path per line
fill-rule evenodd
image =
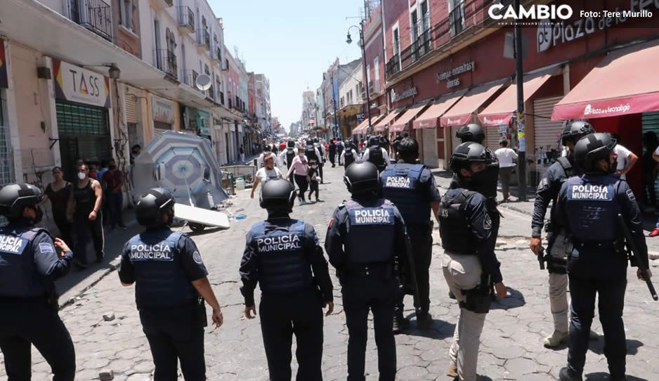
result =
M103 0L67 1L71 20L112 41L112 8Z

